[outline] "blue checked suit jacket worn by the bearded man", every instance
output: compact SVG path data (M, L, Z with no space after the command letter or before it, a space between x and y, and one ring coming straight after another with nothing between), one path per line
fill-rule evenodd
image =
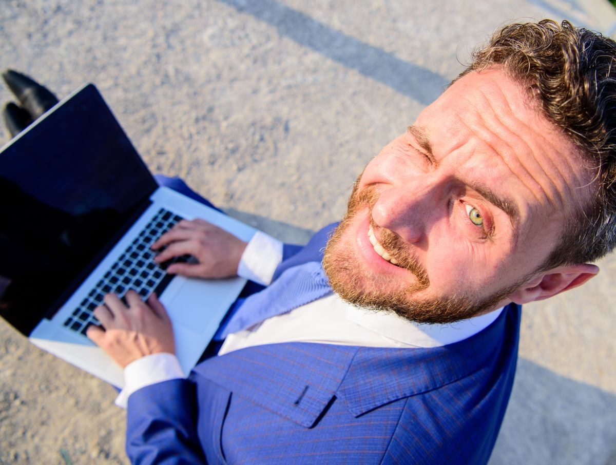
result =
M275 277L320 260L327 231ZM434 349L292 342L209 358L186 380L131 395L128 455L137 463L486 463L511 393L520 313L509 305L475 336Z

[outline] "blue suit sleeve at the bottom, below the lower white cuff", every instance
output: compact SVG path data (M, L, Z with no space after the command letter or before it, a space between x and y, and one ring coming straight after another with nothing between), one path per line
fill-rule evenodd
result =
M126 454L136 464L206 463L197 436L195 385L171 379L128 399Z

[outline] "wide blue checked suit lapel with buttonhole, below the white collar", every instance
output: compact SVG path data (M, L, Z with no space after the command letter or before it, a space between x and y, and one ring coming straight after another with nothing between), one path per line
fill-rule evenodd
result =
M392 349L286 342L213 357L193 373L311 427L333 397L359 416L458 381L485 366L509 363L509 357L516 354L517 325L519 307L511 305L485 330L444 347Z

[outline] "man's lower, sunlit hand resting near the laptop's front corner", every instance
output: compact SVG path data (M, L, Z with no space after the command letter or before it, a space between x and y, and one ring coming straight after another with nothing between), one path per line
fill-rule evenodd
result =
M147 304L135 291L126 293L128 307L115 294L105 296L105 305L94 309L99 326L87 328L87 337L125 368L145 355L173 354L171 320L158 297L152 294Z

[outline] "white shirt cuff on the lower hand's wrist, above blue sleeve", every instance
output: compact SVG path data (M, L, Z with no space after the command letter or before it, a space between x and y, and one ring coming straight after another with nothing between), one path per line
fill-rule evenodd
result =
M138 358L124 368L124 389L115 400L118 407L126 408L129 396L136 390L169 379L185 378L184 371L174 354L152 354Z

